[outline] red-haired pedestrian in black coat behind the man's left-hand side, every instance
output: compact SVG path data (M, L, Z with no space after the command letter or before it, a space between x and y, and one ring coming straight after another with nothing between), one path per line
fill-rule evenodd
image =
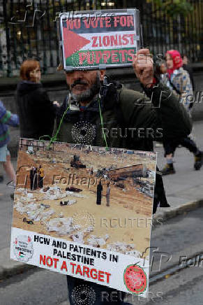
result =
M20 118L20 136L28 139L52 137L57 102L50 101L40 83L40 63L28 59L20 67L20 78L15 100ZM49 139L48 137L48 139Z

